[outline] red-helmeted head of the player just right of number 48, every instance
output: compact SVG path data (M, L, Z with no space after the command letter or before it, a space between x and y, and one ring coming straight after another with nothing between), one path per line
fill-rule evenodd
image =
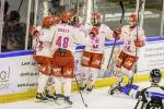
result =
M93 26L99 26L101 25L101 14L99 13L93 13L91 17L91 22Z

